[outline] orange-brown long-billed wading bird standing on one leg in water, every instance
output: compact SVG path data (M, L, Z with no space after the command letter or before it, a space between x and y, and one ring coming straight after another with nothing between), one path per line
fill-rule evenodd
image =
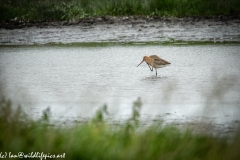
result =
M153 71L153 68L155 68L156 76L157 76L157 68L166 67L167 65L171 64L168 61L165 61L164 59L161 59L157 55L151 55L149 57L148 56L144 56L143 60L142 60L142 62L140 64L142 64L144 61L147 63L147 65L148 65L148 67L150 68L151 71ZM152 66L152 68L150 66Z

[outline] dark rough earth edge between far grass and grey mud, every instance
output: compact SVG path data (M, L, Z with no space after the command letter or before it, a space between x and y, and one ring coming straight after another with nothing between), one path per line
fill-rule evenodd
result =
M213 22L224 22L229 23L231 21L240 23L240 15L230 15L230 16L192 16L192 17L183 17L183 18L171 18L171 17L148 17L148 16L102 16L102 17L93 17L93 18L83 18L80 20L70 20L70 21L51 21L51 20L42 20L42 21L21 21L16 19L6 20L0 22L0 28L2 29L20 29L28 27L56 27L56 26L72 26L72 25L100 25L100 24L136 24L136 23L147 23L147 22L199 22L199 21L213 21Z

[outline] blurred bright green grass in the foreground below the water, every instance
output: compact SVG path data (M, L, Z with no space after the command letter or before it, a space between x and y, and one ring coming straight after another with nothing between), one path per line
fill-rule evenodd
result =
M66 159L240 159L240 134L215 137L193 134L174 126L155 123L139 125L141 100L132 106L132 116L124 123L105 120L107 106L99 108L91 121L76 125L54 126L51 111L43 111L32 120L21 107L13 109L11 101L0 101L0 152L44 152L63 154Z

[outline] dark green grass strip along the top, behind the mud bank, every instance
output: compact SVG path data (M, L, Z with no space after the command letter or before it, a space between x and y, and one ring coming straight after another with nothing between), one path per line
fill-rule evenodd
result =
M0 0L0 20L73 20L94 16L239 14L239 0Z

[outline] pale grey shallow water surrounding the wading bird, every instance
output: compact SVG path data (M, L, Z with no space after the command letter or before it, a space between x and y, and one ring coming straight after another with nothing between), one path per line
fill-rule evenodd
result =
M169 121L240 119L240 45L2 46L3 93L33 117L50 106L53 118L92 117L103 104L112 117L131 114ZM171 65L151 72L156 54ZM203 118L204 117L204 118Z

